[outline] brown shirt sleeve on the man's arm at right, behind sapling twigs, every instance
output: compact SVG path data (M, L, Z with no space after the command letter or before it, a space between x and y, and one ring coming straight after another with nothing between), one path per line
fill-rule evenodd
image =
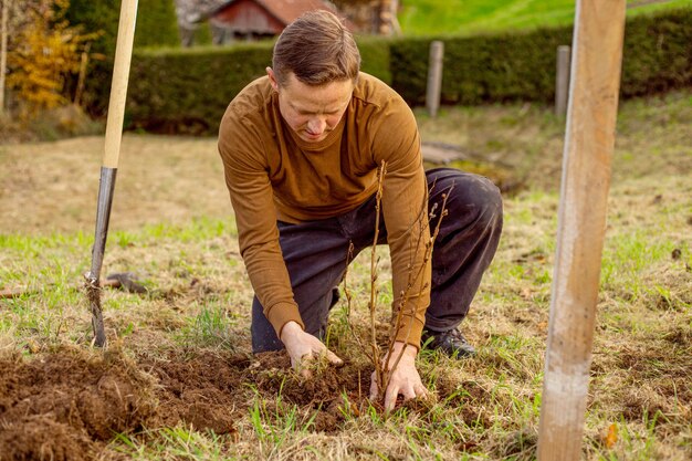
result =
M420 136L413 113L396 94L373 128L375 160L387 164L381 203L391 256L392 334L397 340L420 347L431 274L428 185Z

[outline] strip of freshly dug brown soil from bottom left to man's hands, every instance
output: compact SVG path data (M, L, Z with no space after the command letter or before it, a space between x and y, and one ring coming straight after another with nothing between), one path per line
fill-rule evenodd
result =
M317 367L306 380L290 365L283 352L135 359L120 350L63 347L3 358L0 460L93 459L116 433L179 423L234 436L233 421L256 401L255 392L268 415L297 409L312 420L307 429L325 432L367 405L367 366Z

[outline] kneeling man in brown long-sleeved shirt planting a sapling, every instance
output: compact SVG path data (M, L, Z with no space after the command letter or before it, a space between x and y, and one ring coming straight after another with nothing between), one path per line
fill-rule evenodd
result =
M450 355L473 354L457 327L497 247L502 201L485 178L426 174L412 112L359 66L353 35L334 14L305 13L279 38L268 75L229 105L219 151L255 292L253 352L285 347L294 367L319 355L340 363L321 338L349 244L357 254L373 243L377 170L386 164L379 243L389 244L401 310L392 356L402 353L385 389L391 409L398 395L426 395L415 365L421 335ZM440 219L443 197L448 214L430 263L428 209Z

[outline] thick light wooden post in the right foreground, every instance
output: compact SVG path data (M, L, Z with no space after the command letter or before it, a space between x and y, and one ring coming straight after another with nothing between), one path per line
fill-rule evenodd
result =
M538 460L578 460L591 364L626 0L578 0Z

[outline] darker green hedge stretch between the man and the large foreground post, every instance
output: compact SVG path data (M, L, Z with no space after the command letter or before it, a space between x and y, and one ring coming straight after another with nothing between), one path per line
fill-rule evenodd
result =
M570 43L572 30L437 40L444 42L443 104L547 102L554 92L556 49ZM392 86L411 105L426 101L431 41L397 41L391 46Z

